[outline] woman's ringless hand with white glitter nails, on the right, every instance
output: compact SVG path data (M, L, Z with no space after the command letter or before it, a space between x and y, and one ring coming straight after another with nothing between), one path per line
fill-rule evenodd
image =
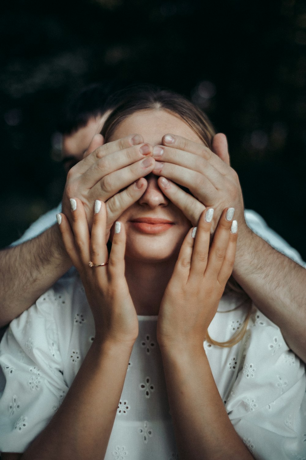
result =
M210 247L212 214L211 208L206 209L196 234L191 229L182 244L158 315L157 340L161 349L203 349L207 328L231 275L237 242L233 208L223 211Z

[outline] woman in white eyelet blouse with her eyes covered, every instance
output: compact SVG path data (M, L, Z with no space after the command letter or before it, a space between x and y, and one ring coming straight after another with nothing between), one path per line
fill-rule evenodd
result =
M127 152L131 161L147 152L144 171L168 132L207 148L213 135L184 98L151 91L128 98L103 130L118 145L137 132L146 144ZM302 455L304 367L244 293L223 295L234 209L210 246L213 210L191 228L162 182L150 174L135 184L145 192L111 229L109 259L104 203L93 204L89 225L73 197L72 226L58 216L83 285L78 276L58 282L1 344L1 448L20 453L4 459Z

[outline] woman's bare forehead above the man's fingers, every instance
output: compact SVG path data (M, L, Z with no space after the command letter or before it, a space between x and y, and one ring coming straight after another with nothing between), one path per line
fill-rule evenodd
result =
M109 141L141 134L151 145L161 144L165 134L175 134L202 144L196 132L179 115L164 109L139 110L125 118L115 129Z

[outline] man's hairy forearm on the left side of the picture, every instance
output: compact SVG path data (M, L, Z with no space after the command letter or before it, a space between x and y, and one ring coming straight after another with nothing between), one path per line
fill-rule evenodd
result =
M71 267L57 225L0 252L0 326L31 306Z

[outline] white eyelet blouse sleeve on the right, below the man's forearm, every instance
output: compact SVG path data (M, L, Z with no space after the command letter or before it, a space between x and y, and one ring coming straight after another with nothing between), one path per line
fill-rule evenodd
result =
M257 311L226 405L256 459L306 458L305 367L279 328Z

